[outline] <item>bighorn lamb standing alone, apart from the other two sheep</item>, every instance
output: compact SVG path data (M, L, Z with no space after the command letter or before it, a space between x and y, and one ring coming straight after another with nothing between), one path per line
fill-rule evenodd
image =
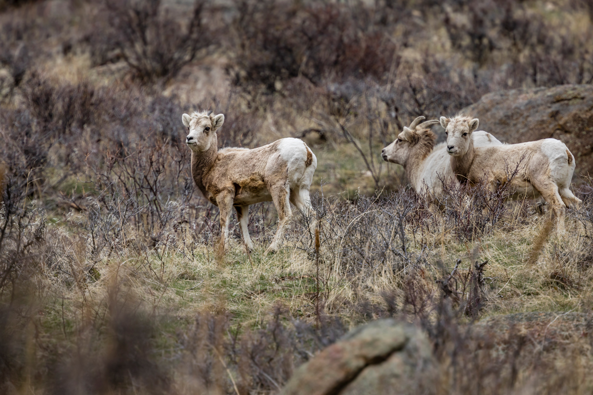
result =
M311 217L314 232L315 216L309 188L317 168L317 158L307 144L299 139L280 139L263 147L218 149L216 131L224 123L224 115L212 111L183 114L189 130L186 143L192 150L193 181L206 199L220 209L221 242L218 255L228 249L228 225L232 207L243 241L248 249L253 242L247 229L250 204L273 201L278 210L278 229L267 252L278 250L285 226L292 217L291 203Z

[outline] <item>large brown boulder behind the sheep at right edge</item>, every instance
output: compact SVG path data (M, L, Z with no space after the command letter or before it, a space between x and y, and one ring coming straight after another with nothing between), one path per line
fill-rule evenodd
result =
M461 113L505 143L559 139L575 155L575 176L593 175L593 85L493 92Z

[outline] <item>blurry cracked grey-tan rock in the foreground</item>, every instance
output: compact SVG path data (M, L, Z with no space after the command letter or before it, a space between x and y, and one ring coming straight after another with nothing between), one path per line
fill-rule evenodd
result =
M378 320L352 330L299 367L280 394L417 393L429 385L426 374L433 368L432 346L422 330Z

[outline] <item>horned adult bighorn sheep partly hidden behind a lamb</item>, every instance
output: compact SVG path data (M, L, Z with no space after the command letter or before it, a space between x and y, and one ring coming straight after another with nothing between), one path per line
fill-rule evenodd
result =
M436 136L429 126L439 120L420 123L425 117L417 117L409 127L398 134L397 139L381 151L383 160L404 166L412 188L418 193L427 193L440 200L443 182L456 182L451 169L447 146L435 146ZM420 123L420 124L419 124ZM474 146L501 145L496 137L479 130L473 133Z

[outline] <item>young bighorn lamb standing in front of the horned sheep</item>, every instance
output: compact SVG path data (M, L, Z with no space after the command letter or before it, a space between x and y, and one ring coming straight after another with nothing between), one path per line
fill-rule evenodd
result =
M497 184L510 181L515 195L530 198L541 195L562 227L565 207L581 203L569 189L575 157L568 147L556 139L477 147L471 136L478 125L477 118L441 117L451 168L460 182L485 181L494 189ZM509 176L512 176L510 180Z

